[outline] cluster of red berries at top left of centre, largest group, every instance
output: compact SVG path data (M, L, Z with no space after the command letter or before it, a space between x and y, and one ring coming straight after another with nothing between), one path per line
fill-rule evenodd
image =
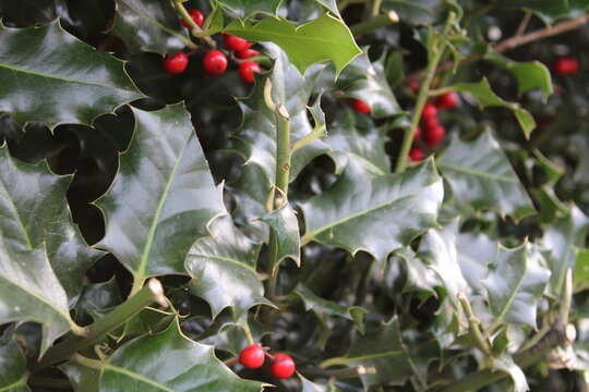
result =
M201 11L191 9L188 10L190 17L194 23L200 27L204 23L204 15ZM182 20L182 26L190 28L190 25ZM232 57L237 60L247 60L247 61L237 61L239 63L239 76L245 83L254 82L254 72L260 72L260 65L251 60L248 60L254 56L260 54L260 52L250 49L253 42L248 42L248 40L236 37L229 34L223 35L223 41L227 49L232 53ZM184 72L189 63L189 54L184 51L179 51L178 53L171 57L165 57L163 60L164 69L171 74L179 74ZM220 50L211 50L203 58L203 68L206 73L213 76L219 76L227 71L227 56Z

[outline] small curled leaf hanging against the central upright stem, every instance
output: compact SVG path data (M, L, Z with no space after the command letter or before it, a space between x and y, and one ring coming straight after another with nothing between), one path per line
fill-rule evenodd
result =
M299 222L290 204L286 201L280 208L260 218L267 223L275 234L275 260L273 271L276 272L278 264L286 258L292 259L297 266L301 265L301 237L299 235Z

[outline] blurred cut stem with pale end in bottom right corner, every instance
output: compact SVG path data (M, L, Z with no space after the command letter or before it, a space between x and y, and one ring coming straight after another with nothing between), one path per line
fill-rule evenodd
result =
M576 331L573 324L561 323L554 326L546 335L540 340L530 350L514 356L514 360L520 368L527 368L544 359L546 354L563 344L570 344L575 340ZM461 380L454 380L445 387L435 389L435 392L466 392L479 391L480 389L490 385L503 378L507 377L506 372L492 371L483 369L470 373Z

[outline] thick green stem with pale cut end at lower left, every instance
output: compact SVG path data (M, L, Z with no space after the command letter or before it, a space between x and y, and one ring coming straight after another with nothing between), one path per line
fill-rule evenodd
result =
M41 360L33 366L33 372L67 360L82 348L100 342L106 333L123 324L154 302L161 306L168 305L164 296L164 287L161 287L161 283L157 279L151 279L143 289L129 297L127 302L117 306L95 323L86 327L85 338L71 336L49 348Z

